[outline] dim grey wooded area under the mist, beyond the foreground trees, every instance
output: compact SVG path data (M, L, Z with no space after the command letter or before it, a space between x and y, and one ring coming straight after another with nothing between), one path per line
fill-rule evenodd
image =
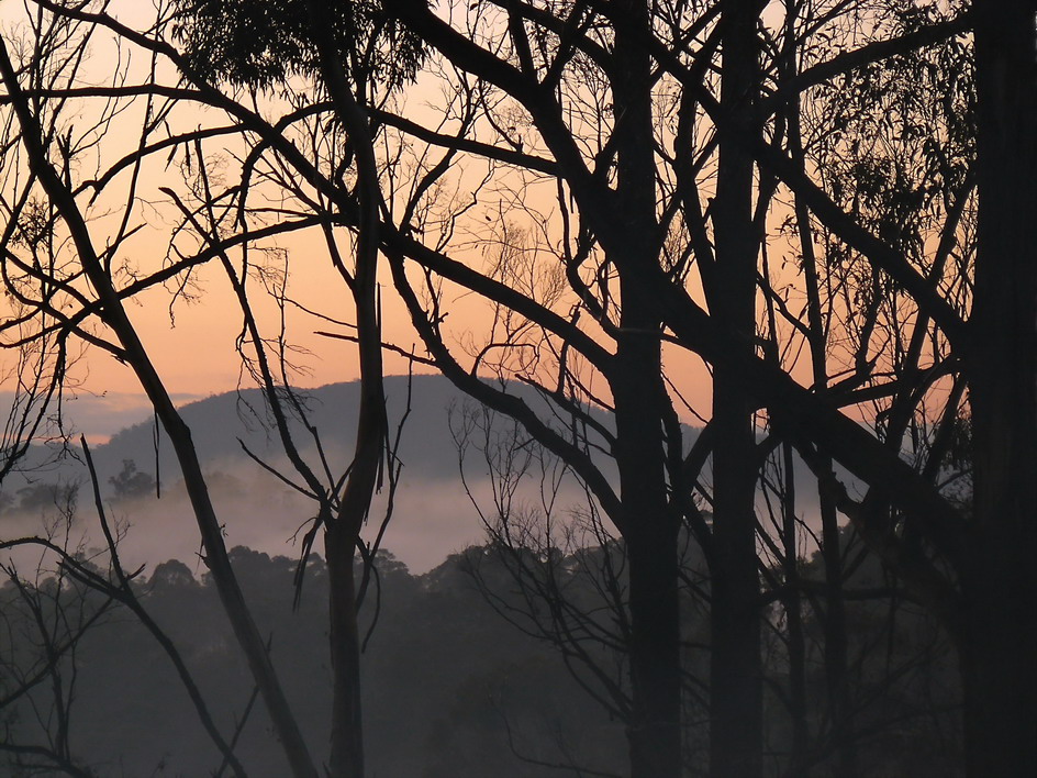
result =
M532 626L535 613L525 610L512 585L510 560L501 551L492 544L472 546L421 576L410 575L391 554L380 554L381 611L361 673L371 775L539 778L558 775L560 768L573 775L621 775L616 765L623 764L625 755L622 720L583 692L551 645L521 629ZM593 570L603 553L600 548L580 551L557 559L566 570L565 587L596 607L602 603L595 598ZM232 548L230 556L260 629L272 635L271 654L283 668L302 727L326 738L328 669L314 662L312 652L325 634L323 562L314 559L310 594L293 610L294 559L270 558L241 546ZM814 560L809 569L817 566L819 560ZM546 569L540 567L540 571ZM881 580L878 570L855 576L861 585ZM168 560L138 581L138 587L148 611L207 690L214 718L237 735L236 748L248 775L285 775L285 757L269 737L263 708L254 704L255 685L235 655L234 637L221 615L212 582L199 580L183 563ZM53 596L53 588L42 588L45 596ZM487 593L525 621L502 619L488 607ZM87 614L104 608L97 593L73 589L65 597L71 600L81 594L88 600ZM11 582L0 597L8 625L30 615L27 601ZM51 608L58 603L44 602L44 610L53 615ZM705 613L685 615L698 624L703 638ZM868 634L884 644L881 651L856 641L851 646L857 660L854 688L861 699L862 773L954 775L961 754L955 742L957 700L950 647L921 609L905 603L895 620L889 616L887 608L874 603L854 608L849 615L855 635ZM819 651L819 625L804 626L811 651ZM770 643L773 665L767 670L781 677L787 668L780 649ZM69 718L69 745L93 775L230 774L160 646L132 619L109 610L71 654L81 668L75 680L76 709L89 715ZM602 667L614 667L621 659L603 644L593 654ZM705 671L701 652L692 667ZM810 674L806 683L815 704L824 694L818 670ZM406 711L405 718L401 711ZM766 715L773 719L773 740L768 746L781 753L789 747L790 730L779 699L768 700ZM8 726L9 732L27 738L38 724L25 716L21 722L9 719ZM685 747L695 764L705 743L700 734Z

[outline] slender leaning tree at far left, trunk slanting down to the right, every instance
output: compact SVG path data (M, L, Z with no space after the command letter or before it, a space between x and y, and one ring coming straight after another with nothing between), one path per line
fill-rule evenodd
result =
M37 57L35 60L36 67L25 68L25 71L30 74L30 78L33 77L33 74L38 75L41 73L43 62L49 59L52 54L62 53L67 41L71 41L71 52L76 53L78 51L79 56L82 56L81 45L85 38L82 35L77 35L75 24L60 16L47 19L45 23L47 24L46 29L41 26L35 31L40 44L34 49ZM78 49L76 44L79 44ZM43 60L38 57L43 57ZM71 63L69 60L65 60L65 63L67 70L48 70L46 74L47 82L44 85L34 82L31 84L31 88L53 88L55 84L60 84L63 79L68 78L74 81L78 57L74 58ZM166 390L141 341L137 330L126 314L123 302L124 293L116 289L115 278L111 274L112 249L121 245L125 238L126 227L123 226L122 234L114 241L114 245L109 245L103 252L99 252L85 212L77 201L76 192L70 184L68 166L73 163L76 152L79 149L70 145L71 140L63 140L64 146L57 142L55 124L49 124L47 130L44 130L44 120L42 120L38 110L34 110L35 107L32 100L21 87L19 74L10 58L5 44L0 47L0 75L2 75L14 118L11 127L14 133L12 141L24 148L25 157L21 162L21 166L27 171L29 176L27 186L24 184L16 185L18 200L15 200L14 209L9 210L7 233L11 234L18 229L21 209L38 187L37 191L42 191L48 203L48 222L60 222L64 229L67 230L69 242L75 247L75 258L71 266L69 264L56 266L60 247L51 242L33 243L30 246L31 258L24 264L13 259L9 253L9 263L18 267L20 273L16 277L18 284L9 282L8 288L19 299L30 319L33 315L41 316L37 324L44 333L55 326L55 324L52 324L51 318L53 294L49 292L49 288L53 285L64 286L66 293L73 300L81 304L86 303L88 311L92 312L92 308L100 312L103 325L112 333L112 341L90 335L87 335L87 338L131 365L155 408L156 415L172 441L205 548L207 564L216 580L220 581L227 616L235 626L244 653L256 675L257 682L263 690L276 726L285 743L286 752L290 762L292 762L293 770L298 775L315 775L305 744L288 710L283 691L280 689L277 676L270 665L263 638L256 631L255 623L248 613L234 573L227 562L219 520L205 489L204 477L191 443L190 430L180 419L169 392ZM49 113L45 121L56 123L59 116L59 112ZM79 138L77 138L77 142L79 142ZM51 156L53 152L57 152L56 160ZM34 266L33 262L41 254L46 257L47 262ZM68 276L65 276L66 273ZM96 291L97 298L92 302L85 300L70 286L78 279L88 281ZM34 286L36 289L33 288ZM36 290L40 292L38 296L33 293ZM56 327L58 330L64 330L68 334L76 331L76 324L69 326L67 323L68 316L65 314L54 311L54 319L57 320ZM8 322L8 326L11 326L11 322ZM31 338L32 336L30 336Z

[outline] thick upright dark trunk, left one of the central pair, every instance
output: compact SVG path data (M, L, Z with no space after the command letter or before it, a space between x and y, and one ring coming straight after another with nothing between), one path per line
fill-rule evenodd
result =
M677 522L669 514L665 475L660 322L655 300L644 292L646 273L658 268L655 245L655 154L650 60L638 32L648 29L644 0L623 0L623 11L640 31L616 30L613 82L618 214L626 240L613 260L620 271L622 333L611 378L616 416L616 464L622 493L621 529L629 557L629 724L633 778L679 778L680 611Z

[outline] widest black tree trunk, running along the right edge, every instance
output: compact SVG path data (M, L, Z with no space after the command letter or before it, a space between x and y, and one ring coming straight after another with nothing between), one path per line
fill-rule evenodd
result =
M1033 2L977 3L973 515L961 673L972 776L1037 775L1037 67Z

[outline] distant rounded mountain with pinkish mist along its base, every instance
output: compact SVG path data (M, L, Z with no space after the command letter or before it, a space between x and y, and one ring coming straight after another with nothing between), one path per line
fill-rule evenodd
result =
M543 398L532 388L521 384L510 384L506 388L532 405L543 408ZM337 478L348 467L353 454L359 385L335 384L308 389L300 397L309 423L317 431L328 469ZM480 515L459 478L458 447L450 431L451 414L457 426L466 404L475 405L439 376L415 376L410 384L403 376L389 377L386 399L393 437L410 404L399 448L403 463L401 485L386 545L412 569L423 571L441 563L447 554L483 537ZM259 390L213 396L183 405L180 412L209 476L210 492L228 543L271 554L294 553L292 537L312 516L313 503L264 470L242 447L244 443L253 455L301 482L287 463ZM604 414L602 422L607 423ZM314 436L298 418L292 421L291 431L310 466L321 471ZM165 432L156 432L154 421L144 421L91 451L102 493L111 501L111 512L132 525L124 541L131 557L152 564L170 557L194 557L197 531L172 445ZM14 522L31 531L38 526L41 515L54 512L54 496L64 493L62 490L68 485L79 484L78 513L83 526L89 527L96 521L93 501L77 449L74 447L67 456L40 469L31 467L48 456L53 458L53 451L34 451L23 468L25 471L12 474L2 485L8 504L0 504L0 521L5 519L3 523L9 526ZM131 463L129 469L127 463ZM469 452L466 463L468 485L479 497L484 516L492 521L488 465L475 449ZM121 479L124 486L131 484L134 488L126 493L133 499L113 500L116 490L112 479ZM159 488L161 499L156 499ZM529 488L533 489L532 484ZM568 494L568 502L559 501L562 510L586 499L575 482L564 487L564 492ZM532 502L538 501L536 494L528 497ZM380 522L384 509L386 496L382 494L376 501L370 521Z

